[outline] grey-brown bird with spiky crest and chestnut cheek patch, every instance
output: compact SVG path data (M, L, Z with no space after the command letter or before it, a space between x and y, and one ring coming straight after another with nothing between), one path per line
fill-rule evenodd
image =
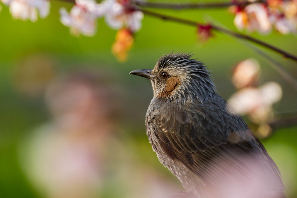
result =
M166 53L130 72L152 84L146 134L159 161L194 197L285 197L277 165L193 56Z

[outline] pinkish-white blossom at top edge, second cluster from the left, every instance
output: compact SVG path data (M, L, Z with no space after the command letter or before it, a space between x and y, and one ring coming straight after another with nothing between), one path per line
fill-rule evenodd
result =
M76 0L69 14L64 7L59 12L61 23L70 28L72 35L94 36L97 31L97 17L103 15L104 9L95 0Z

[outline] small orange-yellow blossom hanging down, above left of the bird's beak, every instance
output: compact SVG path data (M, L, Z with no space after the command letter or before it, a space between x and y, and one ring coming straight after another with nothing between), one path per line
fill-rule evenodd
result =
M120 62L124 62L127 59L128 51L131 49L134 42L133 34L129 29L120 29L116 33L116 40L112 46L113 55Z

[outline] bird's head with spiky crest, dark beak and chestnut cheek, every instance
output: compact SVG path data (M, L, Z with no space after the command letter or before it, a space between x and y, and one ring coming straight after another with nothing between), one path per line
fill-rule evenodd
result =
M189 53L171 52L159 58L153 70L134 70L130 74L150 79L154 98L203 102L215 92L215 87L206 66L191 57Z

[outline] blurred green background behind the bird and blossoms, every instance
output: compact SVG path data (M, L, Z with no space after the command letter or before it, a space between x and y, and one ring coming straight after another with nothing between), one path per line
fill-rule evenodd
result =
M109 102L113 109L110 119L106 121L110 129L107 130L108 135L105 134L112 136L112 140L102 144L104 149L101 155L108 155L105 158L109 161L105 161L104 165L108 174L103 171L104 176L100 178L104 179L99 187L94 187L97 190L93 190L96 191L95 197L138 197L136 191L142 190L155 190L156 193L151 196L162 196L172 192L172 189L183 190L178 180L159 163L145 134L145 114L152 98L151 84L129 75L132 70L152 69L159 56L166 52L195 54L195 58L208 65L217 90L225 99L235 92L230 81L233 65L254 57L261 64L261 81L273 80L282 86L283 98L274 106L275 111L297 110L296 91L265 59L229 36L215 33L213 38L201 45L197 41L195 28L145 16L143 28L135 35L127 61L119 63L111 53L116 31L110 29L104 19L99 19L94 37L72 37L69 29L59 22L58 10L62 6L70 10L72 4L51 1L50 15L36 23L12 19L5 6L0 13L0 197L73 197L52 194L51 189L39 185L39 180L34 179L29 167L32 157L28 157L34 156L31 155L31 144L40 140L36 137L38 131L46 133L40 128L54 120L48 107L50 105L46 102L46 93L49 84L61 76L91 75L112 97L112 102L106 98L102 100L103 103ZM213 18L218 24L236 30L234 16L226 9L157 11L195 21ZM265 36L257 33L252 36L296 54L296 35L272 32ZM264 51L297 77L296 62ZM285 187L288 187L285 193L289 197L297 196L296 132L296 127L280 129L262 140L282 173ZM53 140L52 143L55 142ZM167 186L158 190L160 187L155 181Z

